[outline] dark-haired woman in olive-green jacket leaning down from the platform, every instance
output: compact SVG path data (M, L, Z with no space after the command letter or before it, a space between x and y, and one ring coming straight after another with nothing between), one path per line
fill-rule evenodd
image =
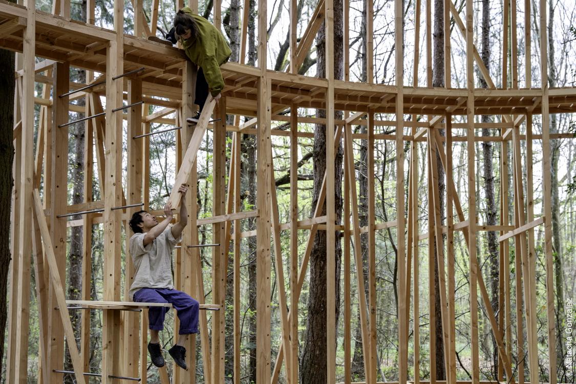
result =
M196 77L195 104L200 109L195 117L189 118L189 123L197 123L208 92L218 100L224 88L224 79L220 66L226 63L232 55L230 47L222 33L208 20L192 13L189 7L184 7L176 13L174 28L177 39L192 63L198 68Z

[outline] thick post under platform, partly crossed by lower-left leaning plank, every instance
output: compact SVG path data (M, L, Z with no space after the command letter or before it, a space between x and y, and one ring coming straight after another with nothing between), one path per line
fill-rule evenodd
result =
M50 215L50 237L52 245L54 246L54 255L56 257L56 265L60 276L65 276L66 273L66 219L56 218L59 212L64 212L67 206L67 173L56 172L58 169L67 169L68 167L68 128L59 128L59 124L68 122L68 97L58 97L58 95L68 92L70 81L70 64L56 63L54 70L54 85L52 92L55 95L54 103L52 104L53 113L53 126L52 126L52 196L50 201L50 211L54 214ZM64 330L62 328L62 320L58 310L54 308L58 306L56 303L55 287L50 279L50 290L48 290L48 335L50 350L48 351L48 366L50 367L50 381L54 382L62 379L62 374L56 374L53 370L62 369L63 356L64 356Z

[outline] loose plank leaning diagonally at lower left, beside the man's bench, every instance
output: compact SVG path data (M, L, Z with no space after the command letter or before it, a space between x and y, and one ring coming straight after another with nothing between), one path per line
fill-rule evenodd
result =
M46 218L44 218L44 212L42 210L42 203L40 201L40 193L37 189L33 192L34 199L34 210L36 213L36 220L40 226L40 233L42 240L44 242L44 250L46 251L46 260L48 261L48 268L50 268L50 279L54 286L54 292L56 295L56 302L60 307L60 317L62 318L62 324L64 326L64 332L66 335L66 341L68 343L68 349L70 351L70 358L72 359L72 366L74 367L74 375L78 383L85 383L84 375L82 374L82 360L80 360L80 355L78 353L78 347L74 338L74 331L72 330L72 323L70 322L70 313L66 307L66 298L64 296L64 290L62 288L62 280L60 280L60 273L58 272L58 265L56 264L56 257L54 256L54 249L52 248L52 241L50 239L50 231L48 231L48 225L46 223Z

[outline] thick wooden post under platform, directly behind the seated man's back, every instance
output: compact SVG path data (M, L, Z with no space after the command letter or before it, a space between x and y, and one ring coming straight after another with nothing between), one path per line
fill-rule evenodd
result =
M136 25L136 24L135 24ZM128 104L142 101L142 79L128 80ZM128 130L126 135L127 149L127 172L126 172L126 204L138 204L142 202L142 142L141 139L132 139L133 136L142 135L142 106L137 105L128 110ZM124 229L126 230L126 261L124 281L124 301L128 301L128 292L134 282L134 263L130 254L130 237L132 230L128 221L134 212L141 207L127 208ZM123 344L123 370L127 376L138 376L138 359L135 350L140 348L140 321L135 312L124 313L124 344Z

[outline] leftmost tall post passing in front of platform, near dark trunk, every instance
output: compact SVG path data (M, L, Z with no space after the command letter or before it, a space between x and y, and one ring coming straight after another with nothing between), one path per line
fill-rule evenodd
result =
M36 45L36 2L26 0L26 28L24 29L24 43L22 46L24 67L22 73L21 93L21 121L22 128L21 158L20 158L20 200L18 203L19 225L18 253L14 253L13 265L18 263L17 291L18 301L12 305L17 311L16 322L16 352L14 353L17 382L26 382L28 376L28 333L29 333L29 307L30 307L30 267L32 254L31 228L32 228L32 182L34 176L34 159L29 155L33 153L34 140L34 54ZM16 288L13 281L12 290ZM14 326L12 328L14 330Z

